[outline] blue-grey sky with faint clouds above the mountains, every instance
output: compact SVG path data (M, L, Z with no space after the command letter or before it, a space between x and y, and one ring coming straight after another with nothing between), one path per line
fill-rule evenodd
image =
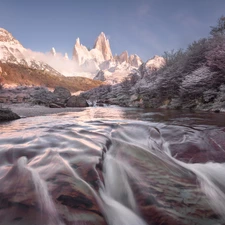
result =
M33 51L72 55L76 38L92 48L104 32L113 54L144 61L207 37L225 0L0 0L0 27Z

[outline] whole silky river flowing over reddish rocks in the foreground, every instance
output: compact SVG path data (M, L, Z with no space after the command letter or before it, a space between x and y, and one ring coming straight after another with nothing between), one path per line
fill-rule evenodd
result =
M93 107L0 124L0 225L43 224L225 224L225 115Z

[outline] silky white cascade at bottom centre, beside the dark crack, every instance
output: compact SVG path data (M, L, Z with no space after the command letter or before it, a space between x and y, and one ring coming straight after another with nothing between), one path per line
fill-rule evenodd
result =
M105 187L100 190L104 213L109 225L146 225L138 216L126 167L106 154L103 166Z

